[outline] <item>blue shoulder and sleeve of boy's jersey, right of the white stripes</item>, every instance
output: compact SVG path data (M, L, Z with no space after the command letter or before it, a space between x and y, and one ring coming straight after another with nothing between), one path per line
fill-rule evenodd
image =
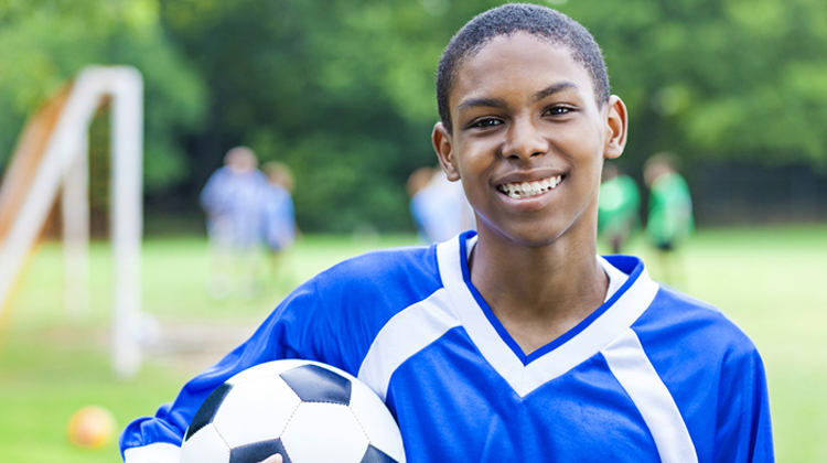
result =
M663 286L638 322L633 327L700 460L771 455L766 376L749 336L717 308Z

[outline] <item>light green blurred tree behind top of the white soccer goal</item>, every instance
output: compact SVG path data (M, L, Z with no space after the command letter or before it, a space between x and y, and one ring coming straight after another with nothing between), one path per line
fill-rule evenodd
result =
M0 165L25 118L89 64L128 64L144 79L149 191L189 175L180 133L197 127L201 77L163 36L157 0L0 0Z

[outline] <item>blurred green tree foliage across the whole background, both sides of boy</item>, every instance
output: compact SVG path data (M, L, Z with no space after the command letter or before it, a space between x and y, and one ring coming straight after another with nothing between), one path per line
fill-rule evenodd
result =
M410 226L405 181L436 164L433 76L494 0L0 0L0 148L90 62L147 79L150 195L193 201L224 153L288 163L305 229ZM827 168L827 2L547 0L604 50L630 108L623 162L659 150ZM7 109L8 108L8 109ZM0 154L2 155L2 154Z

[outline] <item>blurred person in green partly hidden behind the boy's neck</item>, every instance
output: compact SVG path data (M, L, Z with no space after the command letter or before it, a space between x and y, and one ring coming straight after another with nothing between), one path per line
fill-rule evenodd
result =
M641 223L641 193L631 176L614 164L603 164L598 202L598 234L612 254L620 254L629 236Z

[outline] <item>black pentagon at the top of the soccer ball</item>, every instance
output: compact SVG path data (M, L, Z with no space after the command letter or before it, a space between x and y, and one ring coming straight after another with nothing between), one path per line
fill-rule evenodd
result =
M318 365L288 369L281 379L305 402L351 405L351 380Z

